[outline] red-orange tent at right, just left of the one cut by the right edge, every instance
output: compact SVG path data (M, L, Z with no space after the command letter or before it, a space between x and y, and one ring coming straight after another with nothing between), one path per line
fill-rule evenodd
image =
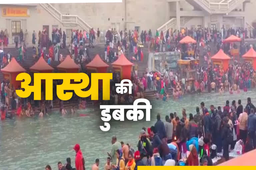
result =
M220 65L224 71L228 69L229 60L231 59L222 49L211 57L213 64Z

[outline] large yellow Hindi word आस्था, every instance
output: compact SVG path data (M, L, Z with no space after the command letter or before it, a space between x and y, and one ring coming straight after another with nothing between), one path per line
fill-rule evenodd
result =
M91 100L99 98L99 80L102 80L102 99L110 100L110 80L112 73L91 73L91 86L87 91L82 89L88 87L90 80L85 73L34 73L34 85L31 83L31 77L27 73L17 75L17 81L21 82L23 90L16 90L16 93L21 98L29 97L31 92L34 92L34 100L41 100L41 80L45 80L45 100L53 100L53 80L63 80L61 85L57 85L57 96L60 100L69 100L73 96L73 92L65 90L73 90L79 97L89 97ZM74 80L76 83L71 83ZM82 81L81 81L82 80Z

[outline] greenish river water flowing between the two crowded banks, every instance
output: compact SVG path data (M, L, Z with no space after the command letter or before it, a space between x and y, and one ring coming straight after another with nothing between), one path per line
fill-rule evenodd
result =
M64 164L67 157L71 158L71 164L74 166L73 146L76 143L80 144L86 169L91 168L96 158L100 159L99 167L103 169L107 152L111 149L112 135L116 135L118 141L130 143L136 150L141 128L154 125L157 113L161 114L162 120L171 112L177 112L180 116L182 108L186 109L187 115L195 114L196 106L200 106L202 101L209 108L211 104L223 107L226 100L230 100L231 103L232 100L241 99L245 106L247 97L251 97L252 103L256 104L254 91L233 95L194 94L176 101L151 101L150 122L111 122L108 132L103 132L99 128L103 125L99 109L79 111L80 114L87 114L85 117L63 117L58 113L52 113L43 119L35 117L0 121L0 170L43 170L47 164L51 165L52 169L57 169L57 162L61 161Z

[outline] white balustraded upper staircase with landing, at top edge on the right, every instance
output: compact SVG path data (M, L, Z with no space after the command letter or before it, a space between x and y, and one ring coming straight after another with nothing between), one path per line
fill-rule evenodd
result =
M226 14L246 0L186 0L192 6L200 7L209 14Z

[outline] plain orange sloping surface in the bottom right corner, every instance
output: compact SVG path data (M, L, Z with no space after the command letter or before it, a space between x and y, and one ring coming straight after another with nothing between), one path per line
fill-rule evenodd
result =
M219 164L218 166L256 166L255 159L256 149L244 153L236 158L230 159L226 162Z

